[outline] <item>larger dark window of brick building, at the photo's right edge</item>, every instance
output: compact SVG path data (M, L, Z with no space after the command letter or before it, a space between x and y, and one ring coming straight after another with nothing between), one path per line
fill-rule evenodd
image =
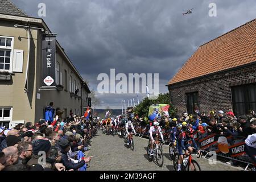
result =
M234 114L246 114L256 110L256 84L235 86L232 88Z

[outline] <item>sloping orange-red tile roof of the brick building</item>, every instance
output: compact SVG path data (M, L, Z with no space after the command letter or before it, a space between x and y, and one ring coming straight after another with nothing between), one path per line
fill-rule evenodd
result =
M256 62L256 19L200 46L168 85Z

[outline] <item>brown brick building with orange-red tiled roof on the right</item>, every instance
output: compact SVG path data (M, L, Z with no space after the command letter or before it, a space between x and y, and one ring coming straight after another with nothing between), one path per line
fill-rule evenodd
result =
M256 19L200 46L166 86L178 114L256 111Z

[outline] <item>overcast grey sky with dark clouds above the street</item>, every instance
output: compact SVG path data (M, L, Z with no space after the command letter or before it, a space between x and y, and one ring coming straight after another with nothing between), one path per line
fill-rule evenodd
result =
M43 18L90 89L97 76L159 73L159 91L206 42L256 18L255 0L12 0L28 15ZM209 3L217 17L210 17ZM38 4L46 4L46 17ZM192 9L193 13L182 15ZM101 108L121 109L136 94L97 94ZM140 100L145 94L139 95ZM98 107L99 108L99 107Z

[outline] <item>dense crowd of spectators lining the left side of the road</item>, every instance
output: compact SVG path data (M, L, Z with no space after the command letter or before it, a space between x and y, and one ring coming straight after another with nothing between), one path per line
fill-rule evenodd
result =
M93 121L74 115L53 122L0 128L0 171L85 171L92 156Z

